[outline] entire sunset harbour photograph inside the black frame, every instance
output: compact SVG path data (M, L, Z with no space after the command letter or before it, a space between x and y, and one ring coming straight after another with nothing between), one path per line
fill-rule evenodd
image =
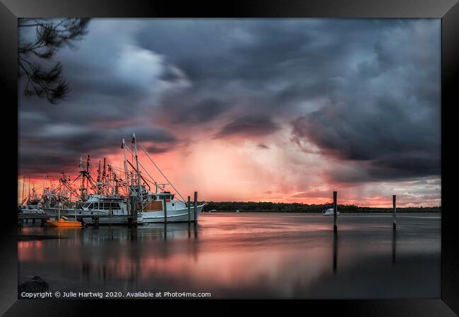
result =
M441 298L441 18L17 30L19 302Z

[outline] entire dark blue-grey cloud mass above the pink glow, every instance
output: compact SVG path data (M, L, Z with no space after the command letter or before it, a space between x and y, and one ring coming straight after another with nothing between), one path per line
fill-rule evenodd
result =
M21 166L102 155L131 132L160 153L186 137L181 129L257 138L292 123L297 144L357 162L360 170L330 170L333 180L438 175L439 26L95 19L76 51L56 56L71 85L67 100L20 97Z

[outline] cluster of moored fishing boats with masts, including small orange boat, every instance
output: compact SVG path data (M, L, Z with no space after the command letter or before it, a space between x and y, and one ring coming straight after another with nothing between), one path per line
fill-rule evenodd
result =
M138 146L143 150L153 166L165 179L165 183L158 183L138 159ZM130 149L131 148L131 149ZM124 169L117 169L107 164L106 159L98 163L97 178L93 178L88 154L85 164L80 157L80 173L73 181L62 172L59 178L59 187L54 188L52 182L47 187L46 176L42 186L41 197L37 194L35 185L28 196L25 194L25 178L23 178L23 199L18 205L18 225L23 220L41 220L42 225L62 227L83 225L128 225L133 227L147 223L196 223L201 214L204 203L198 202L198 192L194 192L193 201L184 197L172 185L162 170L157 167L148 151L138 142L135 133L131 136L131 144L122 139L121 149L124 154ZM126 156L131 154L131 161ZM135 159L134 159L135 158ZM141 168L143 170L141 170ZM76 188L73 183L79 180L81 185ZM166 190L172 187L175 192ZM154 189L153 189L154 188ZM155 192L152 192L154 190ZM79 192L79 194L78 194ZM175 197L179 197L178 199ZM169 211L169 212L168 212Z

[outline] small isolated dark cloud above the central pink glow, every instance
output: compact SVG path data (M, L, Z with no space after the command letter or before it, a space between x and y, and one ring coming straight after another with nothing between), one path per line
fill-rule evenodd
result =
M278 129L278 124L274 123L268 116L244 116L225 125L222 130L217 132L215 137L230 137L234 135L258 137L270 135Z

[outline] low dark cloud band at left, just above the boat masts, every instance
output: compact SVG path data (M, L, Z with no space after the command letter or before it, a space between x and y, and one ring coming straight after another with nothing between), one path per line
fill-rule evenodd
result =
M121 153L121 139L131 142L131 135L154 153L168 151L178 140L160 128L94 128L90 126L49 125L51 128L23 128L19 144L21 172L28 174L60 173L78 169L81 155L100 159L107 154ZM148 144L155 145L148 145Z

